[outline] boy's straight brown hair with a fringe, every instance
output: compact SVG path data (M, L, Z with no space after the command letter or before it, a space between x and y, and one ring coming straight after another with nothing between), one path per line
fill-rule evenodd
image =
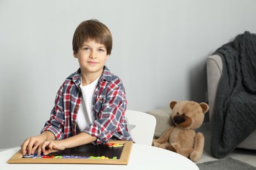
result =
M77 26L72 41L73 51L77 53L83 42L88 40L104 44L107 55L111 54L112 35L108 27L98 20L86 20Z

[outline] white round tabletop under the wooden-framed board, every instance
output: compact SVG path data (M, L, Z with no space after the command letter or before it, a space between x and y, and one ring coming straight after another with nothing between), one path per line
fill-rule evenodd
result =
M181 156L175 152L157 148L154 146L147 146L144 144L133 144L129 163L127 165L100 165L100 164L35 164L35 163L7 163L7 161L20 150L20 147L11 148L0 152L0 169L100 169L100 170L114 170L114 169L190 169L198 170L196 163L188 158Z

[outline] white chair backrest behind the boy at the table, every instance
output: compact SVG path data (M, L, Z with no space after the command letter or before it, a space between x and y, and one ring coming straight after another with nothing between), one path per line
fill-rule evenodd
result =
M151 146L156 128L156 118L144 112L126 110L125 119L133 141Z

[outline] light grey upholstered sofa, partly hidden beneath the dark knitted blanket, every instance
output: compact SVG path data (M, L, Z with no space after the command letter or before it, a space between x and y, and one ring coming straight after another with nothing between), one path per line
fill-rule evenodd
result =
M222 74L222 60L218 55L209 56L207 58L207 88L208 88L208 100L209 100L209 120L211 122L211 117L213 114L213 107L215 103L215 94L217 91L217 86ZM211 124L211 126L214 126ZM256 130L251 133L242 143L240 143L238 148L247 148L256 150Z

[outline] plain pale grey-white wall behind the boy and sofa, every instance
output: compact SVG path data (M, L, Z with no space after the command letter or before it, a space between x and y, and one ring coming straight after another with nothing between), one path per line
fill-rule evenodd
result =
M64 79L77 70L72 36L83 21L108 25L107 66L125 85L128 109L206 101L206 57L245 30L254 0L0 0L0 148L39 134Z

